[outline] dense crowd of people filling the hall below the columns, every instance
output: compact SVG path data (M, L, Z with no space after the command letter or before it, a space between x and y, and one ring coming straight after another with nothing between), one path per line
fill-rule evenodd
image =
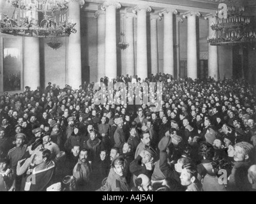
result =
M97 105L93 82L5 92L0 191L256 191L255 87L162 73L112 82L162 82L162 92L149 90L160 111L143 103L143 89L139 104ZM138 97L112 94L121 92Z

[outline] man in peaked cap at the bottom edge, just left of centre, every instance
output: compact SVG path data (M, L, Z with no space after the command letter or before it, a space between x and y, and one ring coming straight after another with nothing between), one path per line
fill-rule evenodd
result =
M105 185L97 191L129 191L124 175L123 157L119 156L113 159Z

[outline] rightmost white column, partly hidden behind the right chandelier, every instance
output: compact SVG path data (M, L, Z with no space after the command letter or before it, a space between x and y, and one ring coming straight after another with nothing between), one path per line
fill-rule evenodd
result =
M208 19L209 25L209 37L216 37L216 31L211 29L211 24L217 21L215 13L210 13L204 17ZM208 45L208 77L213 77L215 80L218 80L218 47L213 45Z

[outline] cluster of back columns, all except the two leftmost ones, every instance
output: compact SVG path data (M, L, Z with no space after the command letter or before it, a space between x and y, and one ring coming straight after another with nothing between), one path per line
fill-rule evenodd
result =
M116 61L116 9L121 8L121 4L105 1L103 3L102 11L96 11L98 17L98 50L103 50L103 21L105 22L105 58L103 52L98 55L98 80L107 75L110 78L116 78L117 61ZM150 6L139 5L133 8L133 13L126 13L126 41L129 47L126 48L126 70L128 75L135 74L135 57L134 57L134 37L133 37L133 18L137 17L137 73L140 78L147 77L147 25L146 13L151 12ZM100 17L100 15L102 17ZM174 76L174 25L173 16L177 15L177 10L164 9L160 11L159 15L151 15L151 73L158 73L158 39L157 39L157 20L164 18L164 32L163 32L163 73L168 73ZM196 32L196 18L200 16L199 12L188 11L183 14L183 18L188 19L188 73L190 78L197 78L197 32ZM105 17L105 18L104 18ZM176 36L177 36L177 75L179 77L179 23L183 20L176 18ZM213 36L214 31L211 29L211 23L216 21L214 15L207 15L209 19L209 35ZM104 33L104 32L103 32ZM99 52L98 52L99 54ZM217 80L218 76L218 53L217 47L209 45L209 77L214 77ZM105 75L104 66L105 60Z

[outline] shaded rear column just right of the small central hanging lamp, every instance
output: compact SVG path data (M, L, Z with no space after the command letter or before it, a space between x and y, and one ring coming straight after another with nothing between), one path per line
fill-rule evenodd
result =
M126 54L126 74L130 76L134 75L135 68L135 57L134 57L134 32L133 32L133 18L136 15L134 13L126 13L125 14L125 34L126 34L126 43L128 43L128 47L124 51Z

